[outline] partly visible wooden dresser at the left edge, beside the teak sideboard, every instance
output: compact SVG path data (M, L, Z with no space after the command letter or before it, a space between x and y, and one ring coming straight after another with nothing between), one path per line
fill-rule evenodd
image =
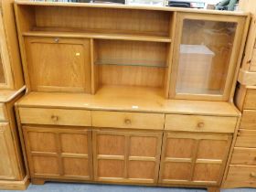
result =
M14 103L24 94L14 1L0 1L0 189L26 189Z

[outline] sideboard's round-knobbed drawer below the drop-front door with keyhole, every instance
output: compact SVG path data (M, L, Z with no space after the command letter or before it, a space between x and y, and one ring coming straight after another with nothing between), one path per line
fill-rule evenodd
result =
M91 112L42 108L19 108L21 123L91 126Z

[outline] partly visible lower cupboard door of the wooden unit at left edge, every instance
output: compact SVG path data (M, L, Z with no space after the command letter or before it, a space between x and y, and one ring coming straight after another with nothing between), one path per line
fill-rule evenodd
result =
M19 179L11 128L8 123L0 123L0 180Z

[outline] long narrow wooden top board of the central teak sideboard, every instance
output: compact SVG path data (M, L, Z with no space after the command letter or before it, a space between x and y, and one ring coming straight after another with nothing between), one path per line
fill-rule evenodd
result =
M118 4L93 4L93 3L70 3L70 2L41 2L37 0L16 0L16 5L46 5L46 6L77 6L77 7L99 7L99 8L120 8L120 9L141 9L141 10L156 10L170 12L187 12L200 14L215 14L215 15L230 15L230 16L248 16L249 13L242 11L218 11L193 8L179 8L168 6L154 5L118 5Z

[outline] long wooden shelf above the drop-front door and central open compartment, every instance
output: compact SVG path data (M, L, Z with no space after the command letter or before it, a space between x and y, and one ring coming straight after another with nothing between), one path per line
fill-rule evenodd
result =
M73 38L97 38L97 39L117 39L133 41L152 41L170 43L170 37L152 35L132 35L117 33L93 33L93 32L57 32L57 31L28 31L23 33L24 37L73 37Z

